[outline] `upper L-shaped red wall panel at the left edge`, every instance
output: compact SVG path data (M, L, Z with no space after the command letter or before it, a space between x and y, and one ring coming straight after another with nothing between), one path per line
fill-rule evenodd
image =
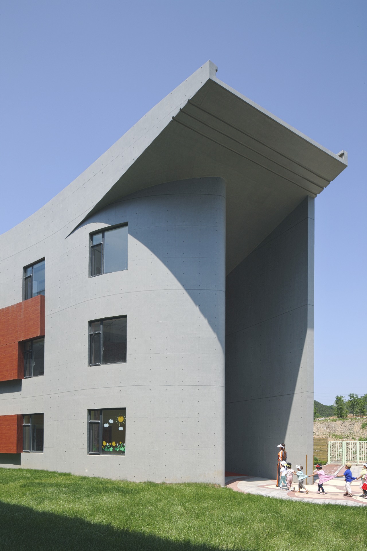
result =
M18 302L0 310L0 381L23 379L24 345L45 334L45 297Z

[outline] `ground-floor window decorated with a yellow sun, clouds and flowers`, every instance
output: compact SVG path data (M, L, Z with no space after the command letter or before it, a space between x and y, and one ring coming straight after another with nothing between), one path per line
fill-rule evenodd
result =
M91 409L88 412L89 453L125 455L126 408Z

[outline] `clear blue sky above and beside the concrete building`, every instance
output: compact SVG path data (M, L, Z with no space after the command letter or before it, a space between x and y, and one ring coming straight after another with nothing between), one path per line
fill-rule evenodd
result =
M349 167L316 198L315 399L367 392L365 0L12 0L1 16L0 233L202 63ZM364 374L363 374L364 370Z

